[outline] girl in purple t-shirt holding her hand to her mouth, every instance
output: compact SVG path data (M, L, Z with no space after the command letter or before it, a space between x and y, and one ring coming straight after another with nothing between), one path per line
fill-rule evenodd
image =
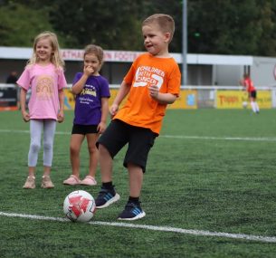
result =
M88 45L83 54L83 72L75 75L71 91L76 94L75 117L71 130L70 157L72 175L64 185L95 186L98 165L96 141L106 129L109 113L109 82L100 75L103 51L100 46ZM90 154L89 174L80 180L81 143L87 139Z

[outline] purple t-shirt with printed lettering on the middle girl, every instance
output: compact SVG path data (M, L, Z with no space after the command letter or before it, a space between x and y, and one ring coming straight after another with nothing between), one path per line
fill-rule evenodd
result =
M73 85L81 79L82 72L78 72ZM76 96L75 118L76 125L98 125L101 119L101 98L109 98L109 81L104 77L91 75L81 91Z

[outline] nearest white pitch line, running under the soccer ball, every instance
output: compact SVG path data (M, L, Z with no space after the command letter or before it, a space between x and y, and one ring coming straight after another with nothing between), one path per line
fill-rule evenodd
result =
M5 213L5 212L0 212L0 215L8 216L8 217L21 217L21 218L34 219L34 220L57 221L57 222L67 222L67 223L70 222L66 218L43 216L43 215L24 215L24 214L14 214L14 213ZM265 242L265 243L276 243L275 236L262 236L262 235L253 235L253 234L231 234L231 233L224 233L224 232L211 232L211 231L204 231L204 230L183 229L183 228L170 227L170 226L138 225L138 224L116 223L116 222L112 223L112 222L91 221L89 224L131 227L131 228L140 228L140 229L153 230L153 231L192 234L192 235L198 235L198 236L214 236L214 237L242 239L242 240L248 240L248 241L258 241L258 242Z

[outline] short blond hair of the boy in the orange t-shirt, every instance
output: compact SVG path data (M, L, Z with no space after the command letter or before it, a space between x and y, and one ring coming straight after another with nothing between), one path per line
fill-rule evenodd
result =
M144 20L142 26L153 23L158 24L163 33L170 33L169 42L171 42L175 33L175 21L173 17L168 14L153 14Z

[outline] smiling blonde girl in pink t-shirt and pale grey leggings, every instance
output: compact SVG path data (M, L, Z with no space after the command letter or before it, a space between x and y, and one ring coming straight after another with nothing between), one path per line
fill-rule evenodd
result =
M55 33L43 32L33 43L33 56L16 82L21 87L21 112L25 122L30 121L31 143L28 154L29 176L24 188L35 187L35 167L43 134L43 188L52 188L52 146L56 121L63 121L66 80L64 62ZM27 91L31 97L26 110Z

